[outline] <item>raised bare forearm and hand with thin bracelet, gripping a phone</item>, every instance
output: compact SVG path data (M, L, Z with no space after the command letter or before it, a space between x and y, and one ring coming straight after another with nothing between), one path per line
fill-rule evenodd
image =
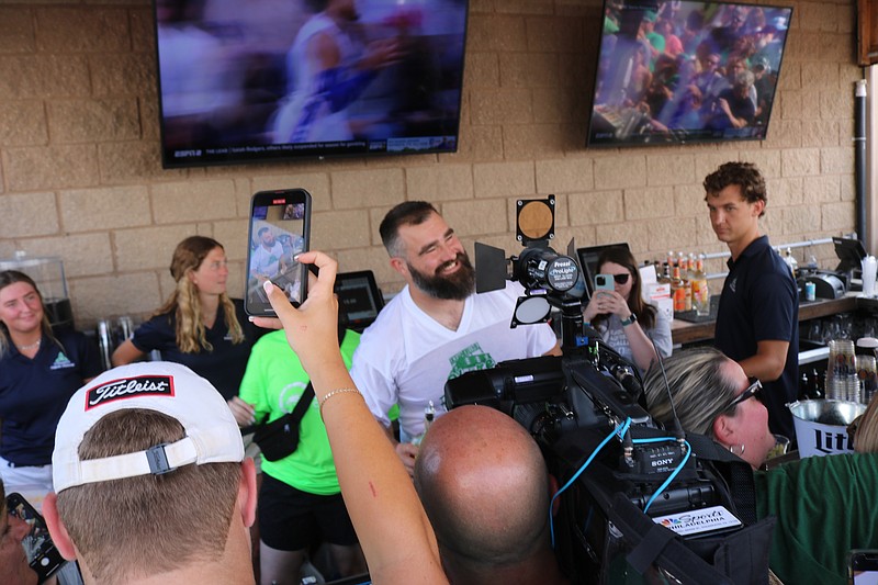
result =
M356 391L338 351L338 304L333 294L337 265L314 251L297 260L320 269L302 307L293 308L271 283L266 283L266 292L314 385L341 494L371 577L378 583L446 583L436 537L412 480ZM254 322L278 327L273 319Z

